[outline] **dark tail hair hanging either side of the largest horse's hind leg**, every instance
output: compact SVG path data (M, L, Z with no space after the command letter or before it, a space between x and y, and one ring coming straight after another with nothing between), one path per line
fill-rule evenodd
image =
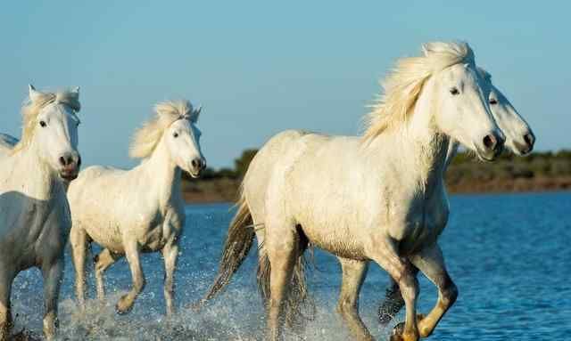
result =
M299 229L298 229L299 230ZM294 273L290 282L289 293L285 301L285 322L289 327L301 325L303 320L312 320L315 315L315 304L309 295L305 278L305 257L304 251L308 248L308 240L300 231L300 256L297 257L294 265ZM269 275L271 265L269 264L268 253L263 244L260 246L260 257L258 261L257 280L261 298L266 306L270 298ZM310 313L304 313L307 308Z

